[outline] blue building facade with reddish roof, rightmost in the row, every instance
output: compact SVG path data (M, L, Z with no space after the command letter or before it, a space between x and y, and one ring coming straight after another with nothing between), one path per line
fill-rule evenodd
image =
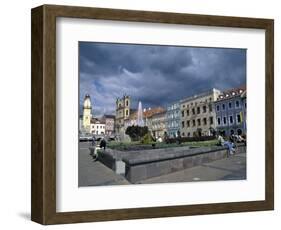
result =
M217 131L224 136L246 134L247 97L245 88L223 92L215 102Z

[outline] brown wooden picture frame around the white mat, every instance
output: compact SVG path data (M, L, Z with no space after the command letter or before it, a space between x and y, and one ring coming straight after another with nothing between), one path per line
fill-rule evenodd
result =
M56 18L119 20L264 29L266 35L265 200L97 211L56 211ZM63 224L274 208L274 21L271 19L43 5L32 9L31 219Z

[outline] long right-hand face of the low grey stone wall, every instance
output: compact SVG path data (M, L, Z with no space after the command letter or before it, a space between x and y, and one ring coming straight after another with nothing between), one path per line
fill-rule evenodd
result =
M225 158L228 154L226 147L201 147L193 149L184 149L178 147L165 149L166 151L156 154L147 154L144 152L138 155L128 155L123 157L125 162L125 177L131 183L165 175L179 170L191 168L211 161ZM151 150L156 151L156 150ZM246 152L246 147L239 145L236 153Z

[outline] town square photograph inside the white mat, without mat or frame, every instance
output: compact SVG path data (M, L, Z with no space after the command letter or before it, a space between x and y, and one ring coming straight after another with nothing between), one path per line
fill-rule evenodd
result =
M78 50L78 187L247 179L247 49Z

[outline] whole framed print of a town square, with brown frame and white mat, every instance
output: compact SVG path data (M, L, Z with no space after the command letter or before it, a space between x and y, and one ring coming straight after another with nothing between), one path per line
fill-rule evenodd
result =
M32 9L41 224L272 210L271 19Z

